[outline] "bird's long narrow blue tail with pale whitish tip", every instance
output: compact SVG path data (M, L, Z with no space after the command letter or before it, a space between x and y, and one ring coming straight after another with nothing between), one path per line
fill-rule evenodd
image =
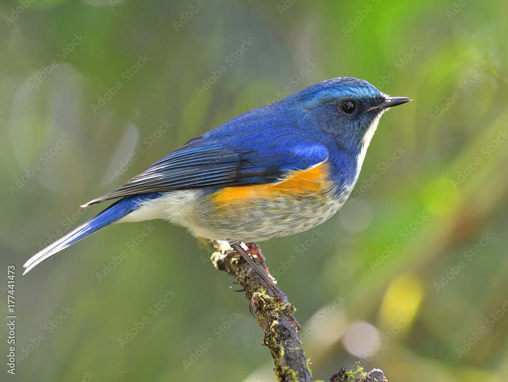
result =
M140 201L155 199L159 196L161 196L161 194L155 192L149 194L127 196L121 200L118 200L116 203L110 205L110 207L108 207L96 217L88 220L86 223L83 223L75 230L69 232L66 236L58 239L50 246L44 248L42 251L32 256L23 265L23 268L26 268L23 275L38 265L41 261L47 259L49 256L60 252L62 249L69 247L71 244L86 238L92 233L97 232L105 226L114 223L117 220L123 218L125 215L133 212L138 207Z

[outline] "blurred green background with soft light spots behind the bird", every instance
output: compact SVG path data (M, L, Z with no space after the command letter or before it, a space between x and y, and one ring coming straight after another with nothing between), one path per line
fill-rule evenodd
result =
M414 101L383 116L338 214L260 243L314 378L361 361L390 382L505 380L507 3L23 0L0 13L0 309L15 265L22 357L8 374L2 325L0 379L275 380L248 302L182 228L119 224L22 265L104 207L80 204L187 140L353 76Z

